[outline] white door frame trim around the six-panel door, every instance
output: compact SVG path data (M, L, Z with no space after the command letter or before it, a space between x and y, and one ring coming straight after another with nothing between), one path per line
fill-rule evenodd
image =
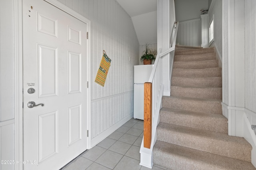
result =
M74 10L68 8L64 4L58 2L57 0L44 0L56 8L70 14L74 18L86 23L87 31L88 31L88 39L87 42L87 77L88 82L91 80L91 42L90 42L90 31L91 31L91 22L84 16L78 14ZM14 154L15 160L23 160L23 49L22 49L22 0L14 0L14 59L15 59L15 66L14 66L14 90L15 90L15 145L14 145ZM87 148L91 148L91 90L90 90L90 83L88 83L88 98L87 98L87 129L88 133L88 141L87 141ZM23 170L22 164L16 164L15 170Z

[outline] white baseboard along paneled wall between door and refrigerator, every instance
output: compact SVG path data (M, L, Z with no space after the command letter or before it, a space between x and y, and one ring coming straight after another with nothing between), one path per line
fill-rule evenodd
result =
M113 126L111 126L110 128L108 128L107 130L105 130L104 132L100 133L98 136L94 137L91 140L91 148L94 147L95 145L97 145L98 143L100 143L103 139L105 139L106 137L108 137L111 133L113 133L114 131L116 131L116 129L118 129L119 127L121 127L122 125L124 125L124 123L126 123L127 121L129 121L130 119L132 119L133 117L133 113L131 113L130 115L126 116L124 119L118 121L116 124L114 124Z

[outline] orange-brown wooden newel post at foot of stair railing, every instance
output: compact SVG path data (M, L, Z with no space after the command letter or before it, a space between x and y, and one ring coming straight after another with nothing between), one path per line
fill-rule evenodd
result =
M144 83L144 147L150 149L152 134L152 83Z

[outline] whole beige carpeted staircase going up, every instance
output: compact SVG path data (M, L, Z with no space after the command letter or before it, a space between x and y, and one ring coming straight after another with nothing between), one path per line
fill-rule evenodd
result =
M251 145L227 135L214 48L176 46L171 96L162 98L153 162L171 170L251 170Z

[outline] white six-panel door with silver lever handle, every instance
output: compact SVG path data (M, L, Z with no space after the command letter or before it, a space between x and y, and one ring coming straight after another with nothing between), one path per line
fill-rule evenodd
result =
M24 170L57 170L87 149L86 32L44 0L23 0Z

